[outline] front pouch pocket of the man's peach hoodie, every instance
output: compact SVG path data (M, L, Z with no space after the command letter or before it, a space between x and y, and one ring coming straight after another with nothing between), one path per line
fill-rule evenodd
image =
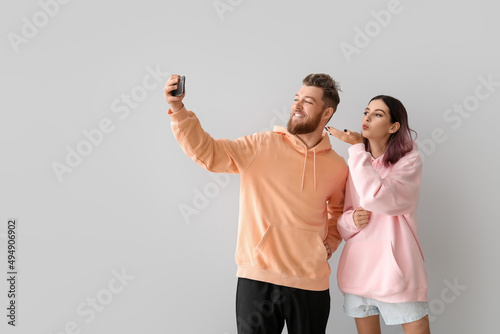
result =
M285 275L321 279L330 275L327 252L317 232L270 225L253 252L253 265Z

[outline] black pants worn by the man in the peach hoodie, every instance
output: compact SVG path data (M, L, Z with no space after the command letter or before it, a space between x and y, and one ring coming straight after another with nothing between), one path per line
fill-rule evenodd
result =
M309 291L238 278L238 334L324 334L330 291Z

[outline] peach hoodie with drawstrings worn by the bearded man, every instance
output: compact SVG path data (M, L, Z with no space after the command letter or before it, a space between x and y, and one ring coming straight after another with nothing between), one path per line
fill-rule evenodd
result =
M305 290L329 288L326 241L341 242L347 165L330 140L307 149L276 127L236 140L213 139L196 115L172 113L172 129L184 152L205 169L239 173L238 277ZM209 220L209 219L207 219Z

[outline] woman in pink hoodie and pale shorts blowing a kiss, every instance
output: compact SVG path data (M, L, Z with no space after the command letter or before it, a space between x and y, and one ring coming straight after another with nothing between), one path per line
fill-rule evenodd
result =
M417 237L422 160L403 104L370 100L362 134L327 127L349 148L344 214L337 227L346 241L337 280L344 311L359 334L400 324L406 334L430 333L427 273Z

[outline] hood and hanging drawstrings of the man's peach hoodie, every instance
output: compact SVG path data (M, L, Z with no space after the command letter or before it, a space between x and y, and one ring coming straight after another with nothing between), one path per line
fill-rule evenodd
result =
M293 147L297 152L300 152L304 155L304 166L302 167L302 181L300 182L300 191L304 190L304 180L306 175L306 165L307 165L307 156L309 154L313 154L313 182L314 182L314 190L316 191L316 154L328 152L332 149L332 144L330 143L330 138L328 137L326 131L323 131L323 138L321 141L314 147L307 148L306 144L302 142L296 135L292 135L285 127L275 126L274 132L280 134L284 137L289 143L290 146Z

